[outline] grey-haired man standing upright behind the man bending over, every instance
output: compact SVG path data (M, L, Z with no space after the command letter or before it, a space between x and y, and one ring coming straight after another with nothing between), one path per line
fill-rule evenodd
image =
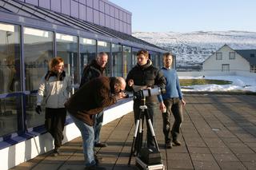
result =
M80 83L80 88L86 82L96 78L106 76L106 63L107 63L107 53L98 53L96 59L86 65L82 72L82 78ZM100 142L100 132L102 128L103 121L103 111L94 115L94 146L95 147L106 147L106 143Z

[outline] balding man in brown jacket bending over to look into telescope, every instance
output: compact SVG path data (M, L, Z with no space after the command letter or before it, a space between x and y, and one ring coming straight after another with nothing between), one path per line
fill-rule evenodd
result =
M105 169L94 158L93 116L124 96L126 81L122 77L98 77L82 85L65 103L74 124L82 134L86 169Z

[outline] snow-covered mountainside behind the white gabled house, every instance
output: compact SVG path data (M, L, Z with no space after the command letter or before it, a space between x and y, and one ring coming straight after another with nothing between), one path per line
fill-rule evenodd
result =
M135 32L133 36L174 53L177 66L201 65L202 61L225 44L230 45L232 49L256 49L256 32Z

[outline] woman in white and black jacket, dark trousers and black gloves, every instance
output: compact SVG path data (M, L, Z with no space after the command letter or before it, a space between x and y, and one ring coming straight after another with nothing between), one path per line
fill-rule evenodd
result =
M46 102L45 127L54 137L54 156L58 156L63 140L63 129L66 121L66 109L64 103L71 90L71 77L64 71L62 57L54 57L50 60L49 70L38 87L36 112L42 112L41 104Z

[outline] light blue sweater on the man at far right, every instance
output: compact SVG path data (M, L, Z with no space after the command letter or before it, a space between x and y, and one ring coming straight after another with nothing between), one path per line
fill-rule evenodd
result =
M182 91L179 86L178 74L175 69L166 69L162 67L162 73L166 77L166 93L162 94L162 99L178 97L182 99Z

